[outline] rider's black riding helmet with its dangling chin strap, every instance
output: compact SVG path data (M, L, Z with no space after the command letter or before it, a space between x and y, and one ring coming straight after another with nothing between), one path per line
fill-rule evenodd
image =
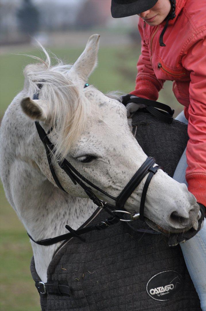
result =
M140 14L154 7L157 1L158 0L112 0L111 2L112 17L119 18ZM166 24L159 37L160 46L165 46L165 44L163 43L163 35L165 33L165 30L167 29L169 20L172 20L175 17L176 0L170 0L170 3L172 9L165 19Z

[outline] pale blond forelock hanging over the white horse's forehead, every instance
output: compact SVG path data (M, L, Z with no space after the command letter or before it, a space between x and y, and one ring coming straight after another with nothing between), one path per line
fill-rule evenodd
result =
M46 60L28 55L40 63L30 64L25 67L25 87L32 99L39 92L39 99L49 103L50 128L52 135L57 134L55 142L56 153L64 158L72 144L78 139L85 128L90 104L85 96L83 82L80 79L71 80L74 74L70 71L72 65L66 65L55 55L55 64L47 51L42 47ZM38 85L43 87L39 90ZM93 86L88 87L91 91Z

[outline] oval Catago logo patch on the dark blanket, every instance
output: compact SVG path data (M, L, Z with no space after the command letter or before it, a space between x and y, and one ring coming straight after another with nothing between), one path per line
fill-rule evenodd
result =
M177 271L163 271L155 274L147 283L147 293L155 300L171 299L180 290L182 276Z

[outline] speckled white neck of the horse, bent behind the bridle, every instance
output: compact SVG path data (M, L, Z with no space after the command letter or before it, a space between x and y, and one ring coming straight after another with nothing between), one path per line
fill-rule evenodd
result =
M64 193L49 181L52 177L45 150L43 144L34 148L39 146L39 138L34 122L22 116L21 97L16 96L2 120L2 150L7 152L1 152L1 177L8 201L27 232L38 241L68 233L67 224L78 229L96 206L89 199ZM31 244L37 273L46 282L47 268L61 242L51 246Z

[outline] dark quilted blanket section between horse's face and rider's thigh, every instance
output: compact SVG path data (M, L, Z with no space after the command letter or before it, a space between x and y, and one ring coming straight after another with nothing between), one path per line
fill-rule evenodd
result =
M140 111L133 114L132 126L146 155L154 157L172 177L189 139L187 125L177 120L168 124Z

